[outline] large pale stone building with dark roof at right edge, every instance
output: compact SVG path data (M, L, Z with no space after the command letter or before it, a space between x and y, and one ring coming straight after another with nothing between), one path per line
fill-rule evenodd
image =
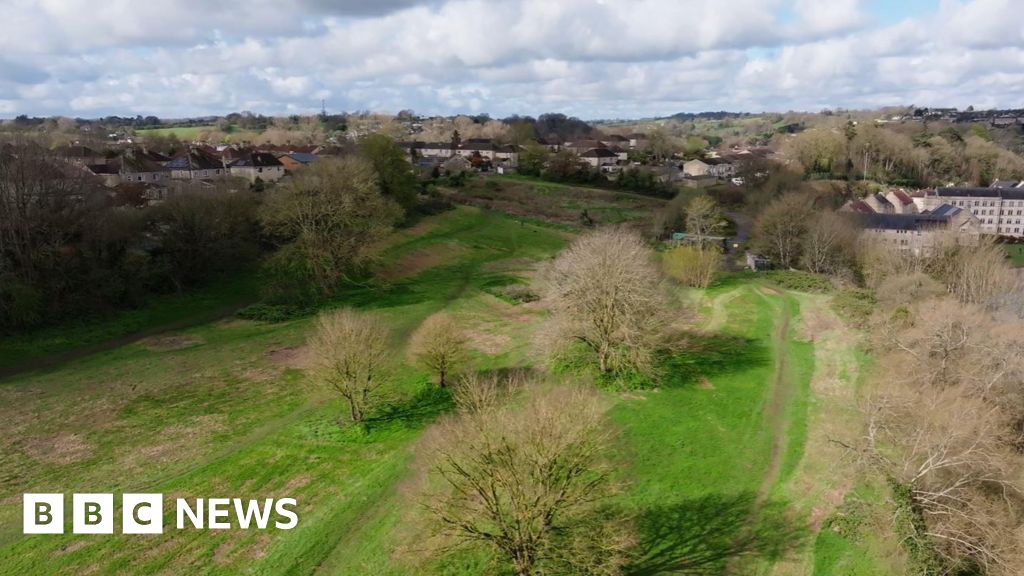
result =
M924 210L943 204L970 211L978 218L982 234L1024 237L1024 188L940 188L921 199ZM1019 184L1018 184L1019 186Z

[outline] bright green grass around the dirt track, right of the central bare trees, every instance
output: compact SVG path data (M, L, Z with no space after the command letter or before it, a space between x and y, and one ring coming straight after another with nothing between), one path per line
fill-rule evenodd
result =
M757 570L806 545L787 502L764 483L774 431L788 438L775 482L800 459L813 361L788 333L777 338L795 301L736 290L722 332L701 336L696 366L657 392L626 397L613 412L629 455L624 503L638 515L644 549L638 574L719 574L739 557ZM787 363L779 368L782 355ZM777 370L791 392L772 414Z

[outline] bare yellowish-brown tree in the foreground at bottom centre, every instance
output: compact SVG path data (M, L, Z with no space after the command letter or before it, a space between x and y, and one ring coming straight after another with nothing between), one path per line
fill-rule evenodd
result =
M488 406L445 417L425 439L422 502L443 545L482 544L519 576L617 573L632 540L595 520L613 489L600 395L556 387Z

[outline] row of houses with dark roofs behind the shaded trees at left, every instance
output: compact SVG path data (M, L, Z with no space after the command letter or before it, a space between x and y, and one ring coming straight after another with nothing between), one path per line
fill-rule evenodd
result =
M314 150L267 150L252 148L214 148L189 146L174 156L144 148L128 148L108 157L86 147L69 147L61 153L108 187L122 182L146 184L168 180L208 180L226 176L250 183L272 182L316 160Z

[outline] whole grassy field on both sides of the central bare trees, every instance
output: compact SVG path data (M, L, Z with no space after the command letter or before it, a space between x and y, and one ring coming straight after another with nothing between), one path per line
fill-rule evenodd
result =
M443 308L465 322L475 368L528 366L545 313L501 288L528 280L568 238L461 207L398 233L382 280L338 305L385 316L396 359ZM751 276L679 296L701 314L690 353L658 389L608 393L618 503L637 519L643 551L630 573L845 574L829 570L865 544L818 530L852 488L824 440L851 425L863 358L850 333L825 296ZM339 427L339 399L304 377L310 323L221 320L0 381L0 574L493 573L482 556L424 561L414 545L410 463L424 427L451 407L446 394L403 365L366 430ZM22 535L20 494L47 491L288 495L300 523ZM173 510L165 517L173 523Z

